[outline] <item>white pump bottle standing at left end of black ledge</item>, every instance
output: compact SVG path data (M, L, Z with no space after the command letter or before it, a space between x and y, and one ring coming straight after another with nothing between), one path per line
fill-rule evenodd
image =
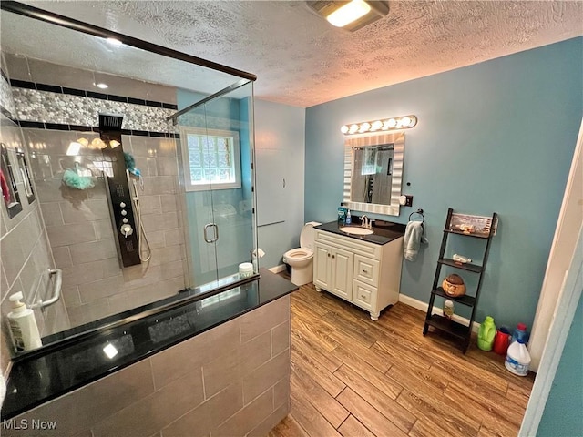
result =
M31 351L40 348L43 343L36 326L35 312L26 308L22 299L22 291L8 298L12 302L12 311L7 316L8 324L16 351Z

